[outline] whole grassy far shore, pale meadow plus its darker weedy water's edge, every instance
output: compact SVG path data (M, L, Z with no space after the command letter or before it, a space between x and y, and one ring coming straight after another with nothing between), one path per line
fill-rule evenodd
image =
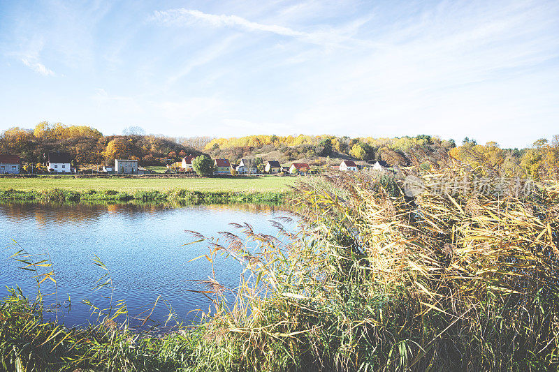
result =
M0 202L284 204L294 177L0 177Z

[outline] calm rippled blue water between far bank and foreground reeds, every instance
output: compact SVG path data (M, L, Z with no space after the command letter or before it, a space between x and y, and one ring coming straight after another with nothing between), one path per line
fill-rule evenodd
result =
M187 207L117 205L45 205L0 204L0 295L8 295L6 286L20 285L24 295L34 299L36 282L31 271L18 269L20 264L9 256L20 248L29 253L48 251L54 263L59 302L71 297L71 310L64 308L68 326L94 322L89 306L82 299L99 305L108 304L102 289L94 292L95 282L104 271L94 265L94 255L106 264L115 285L114 299L124 300L131 315L131 325L138 325L137 315L161 295L181 320L193 320L196 309L207 311L210 304L202 295L188 292L201 289L189 279L205 279L211 274L207 260L188 262L208 253L204 243L182 244L195 239L184 232L194 230L206 237L219 231L234 231L228 223L247 222L254 230L276 235L269 219L284 215L282 209L251 204L203 205ZM17 246L13 243L17 241ZM238 285L241 267L238 262L222 258L215 263L217 280L228 288ZM54 283L45 281L41 292L54 292ZM47 297L45 303L54 300ZM159 302L152 319L165 320L168 308ZM145 318L145 315L138 318Z

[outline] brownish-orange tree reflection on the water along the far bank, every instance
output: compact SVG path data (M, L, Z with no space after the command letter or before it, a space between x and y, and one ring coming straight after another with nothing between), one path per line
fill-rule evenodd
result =
M281 205L270 204L186 204L180 202L169 203L123 203L123 204L89 204L89 203L41 203L41 202L8 202L0 203L0 214L8 216L14 221L29 221L34 219L36 224L44 227L48 223L76 224L96 221L102 216L127 216L141 218L142 215L157 214L176 208L200 207L211 211L249 211L272 212L286 210Z

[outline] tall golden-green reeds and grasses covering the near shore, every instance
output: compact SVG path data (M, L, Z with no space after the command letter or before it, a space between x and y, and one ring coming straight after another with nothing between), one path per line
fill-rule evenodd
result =
M421 185L412 195L409 177ZM483 188L444 186L479 177ZM446 159L309 179L294 191L298 214L270 221L276 236L248 224L218 237L191 232L208 242L198 259L226 255L244 267L238 288L213 270L192 278L191 293L212 300L194 329L141 341L100 331L71 348L78 331L37 322L46 327L38 332L28 322L40 312L28 315L35 305L13 293L0 308L0 339L22 341L0 344L11 358L2 362L29 354L19 362L26 371L557 370L558 184L518 193L496 190L500 179ZM286 228L293 219L295 231ZM44 354L29 342L53 345L55 356L32 364Z

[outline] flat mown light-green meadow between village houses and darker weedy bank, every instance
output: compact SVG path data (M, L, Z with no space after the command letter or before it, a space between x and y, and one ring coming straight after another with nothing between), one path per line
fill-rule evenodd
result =
M61 188L72 191L116 190L133 191L169 190L184 188L191 191L287 191L296 177L255 177L255 178L0 178L0 190L43 191Z

